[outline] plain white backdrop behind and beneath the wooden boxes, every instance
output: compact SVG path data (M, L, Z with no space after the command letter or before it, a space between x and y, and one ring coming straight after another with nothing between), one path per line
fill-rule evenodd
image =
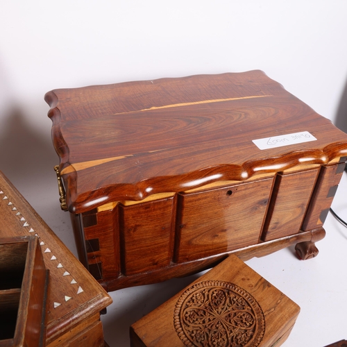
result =
M69 216L58 205L44 94L251 69L346 131L347 1L0 0L0 170L75 251ZM344 214L341 189L337 210ZM314 260L299 262L285 250L248 262L302 308L284 346L347 339L347 239L338 223L327 223L330 234ZM128 325L189 280L113 293L103 317L108 344L128 346Z

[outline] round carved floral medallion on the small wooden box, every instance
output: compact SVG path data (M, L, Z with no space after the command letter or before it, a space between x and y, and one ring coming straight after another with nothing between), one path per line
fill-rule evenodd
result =
M185 346L255 347L265 331L255 298L223 281L199 282L184 291L176 303L174 325Z

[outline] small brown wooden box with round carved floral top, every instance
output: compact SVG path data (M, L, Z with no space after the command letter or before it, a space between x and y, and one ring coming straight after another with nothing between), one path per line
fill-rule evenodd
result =
M132 347L280 346L300 307L235 255L130 327Z

